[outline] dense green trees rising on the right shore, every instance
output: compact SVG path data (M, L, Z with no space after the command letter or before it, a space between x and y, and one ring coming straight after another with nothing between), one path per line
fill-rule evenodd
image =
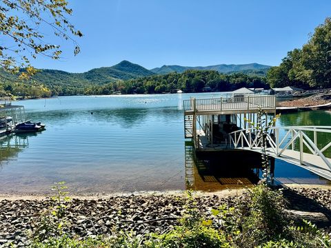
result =
M279 66L267 73L271 87L331 87L331 18L315 28L308 43L288 52Z

